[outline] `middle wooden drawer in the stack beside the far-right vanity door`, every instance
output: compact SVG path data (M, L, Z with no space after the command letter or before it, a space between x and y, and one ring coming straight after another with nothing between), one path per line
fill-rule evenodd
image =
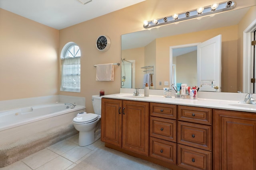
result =
M212 127L178 121L178 143L212 150Z

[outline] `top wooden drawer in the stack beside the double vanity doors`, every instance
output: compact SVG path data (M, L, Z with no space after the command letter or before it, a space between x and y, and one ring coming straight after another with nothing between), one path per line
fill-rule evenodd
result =
M150 103L150 116L176 119L177 106L172 104Z

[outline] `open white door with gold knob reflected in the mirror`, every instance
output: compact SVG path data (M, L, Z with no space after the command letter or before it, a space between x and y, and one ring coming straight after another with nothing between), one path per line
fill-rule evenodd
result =
M197 46L197 78L200 91L221 92L221 35Z

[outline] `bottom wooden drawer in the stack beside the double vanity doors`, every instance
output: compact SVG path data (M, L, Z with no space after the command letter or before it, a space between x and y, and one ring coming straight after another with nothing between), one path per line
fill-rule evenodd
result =
M176 143L150 137L150 156L176 164Z

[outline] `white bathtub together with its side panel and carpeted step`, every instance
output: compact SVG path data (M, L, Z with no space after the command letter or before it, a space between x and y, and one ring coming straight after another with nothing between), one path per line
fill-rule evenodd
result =
M82 111L64 103L0 111L0 167L78 133L72 119Z

